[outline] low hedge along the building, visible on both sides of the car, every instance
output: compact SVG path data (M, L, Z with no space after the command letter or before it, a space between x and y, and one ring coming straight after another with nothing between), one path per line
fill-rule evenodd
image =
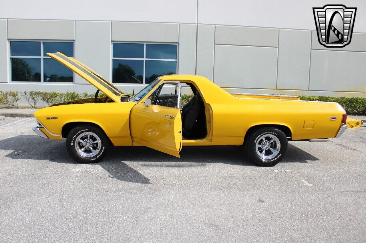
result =
M33 108L38 107L38 101L42 100L48 105L64 103L71 100L94 97L95 94L75 93L75 92L39 92L39 91L1 91L0 90L0 105L9 108L17 108L18 101L23 97ZM132 94L128 94L131 95ZM98 96L105 96L99 93ZM185 105L193 95L182 95L182 105ZM359 97L328 97L328 96L299 96L301 100L311 101L328 101L339 103L347 112L348 115L366 115L366 98Z

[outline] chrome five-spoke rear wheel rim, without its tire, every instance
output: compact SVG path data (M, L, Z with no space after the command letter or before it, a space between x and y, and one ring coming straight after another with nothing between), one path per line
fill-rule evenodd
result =
M258 156L262 159L273 159L279 154L281 143L276 136L266 134L257 140L255 148Z

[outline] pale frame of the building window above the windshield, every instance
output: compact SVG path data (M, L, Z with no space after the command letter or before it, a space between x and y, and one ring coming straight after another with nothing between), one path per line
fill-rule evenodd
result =
M143 44L143 58L128 58L128 57L113 57L113 43L126 43L126 44ZM175 45L177 47L177 59L158 59L158 58L146 58L146 44L157 44L157 45ZM145 63L146 61L175 61L176 62L176 73L178 74L178 59L179 59L179 43L172 42L131 42L131 41L112 41L111 42L111 83L116 85L128 85L128 86L146 86L145 83ZM143 61L143 82L142 84L137 83L114 83L113 82L113 60L142 60Z

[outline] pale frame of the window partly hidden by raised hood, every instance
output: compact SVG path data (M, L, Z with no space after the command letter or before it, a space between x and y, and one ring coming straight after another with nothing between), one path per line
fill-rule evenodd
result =
M12 56L11 55L11 46L10 46L10 42L11 41L26 41L26 42L40 42L41 44L41 55L38 56ZM75 84L75 72L72 72L72 82L45 82L44 81L44 73L43 73L43 59L44 58L51 58L49 56L44 56L43 55L43 42L72 42L73 45L73 58L75 58L75 40L29 40L29 39L8 39L8 56L9 56L9 83L14 83L14 84L62 84L62 85L68 85L68 84ZM40 58L41 59L41 81L37 82L37 81L12 81L11 80L11 58Z

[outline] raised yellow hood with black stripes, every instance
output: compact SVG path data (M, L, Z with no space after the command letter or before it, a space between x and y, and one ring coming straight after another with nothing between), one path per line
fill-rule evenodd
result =
M79 74L90 84L94 85L97 89L103 92L106 96L108 96L111 100L116 102L121 102L121 96L125 95L121 90L119 90L116 86L114 86L111 82L103 78L98 73L94 72L90 67L85 64L79 62L78 60L67 57L66 55L56 52L56 53L46 53L53 59L61 62L63 65L70 68L75 73ZM128 96L129 97L129 96Z

